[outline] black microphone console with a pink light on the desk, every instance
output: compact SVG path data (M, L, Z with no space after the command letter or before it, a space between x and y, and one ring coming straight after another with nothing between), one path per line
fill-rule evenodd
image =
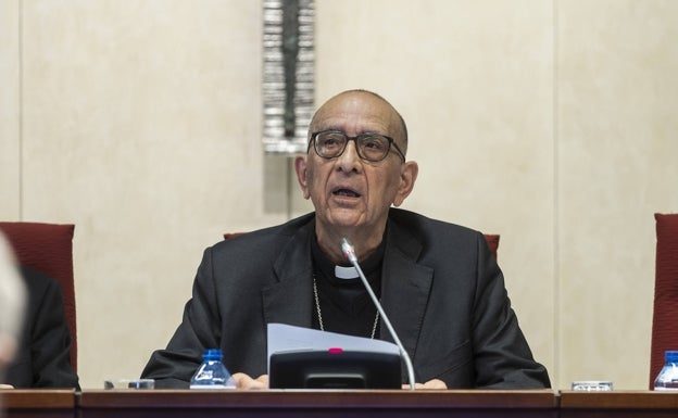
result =
M393 353L299 351L274 353L271 389L401 389L400 355Z

